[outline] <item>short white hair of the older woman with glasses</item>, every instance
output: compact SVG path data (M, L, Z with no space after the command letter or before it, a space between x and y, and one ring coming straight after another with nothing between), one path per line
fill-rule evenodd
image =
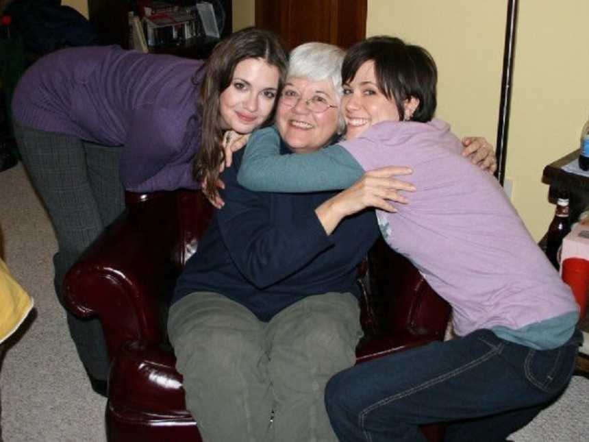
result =
M335 45L321 42L303 43L290 51L286 77L308 78L314 82L329 80L334 86L338 106L343 95L342 62L345 51ZM338 133L345 129L341 116L338 121Z

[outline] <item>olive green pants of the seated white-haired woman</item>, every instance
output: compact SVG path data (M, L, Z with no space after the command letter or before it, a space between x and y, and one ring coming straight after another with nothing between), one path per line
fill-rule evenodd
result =
M355 363L359 318L350 293L307 297L269 322L218 293L180 299L168 333L203 441L337 441L323 393Z

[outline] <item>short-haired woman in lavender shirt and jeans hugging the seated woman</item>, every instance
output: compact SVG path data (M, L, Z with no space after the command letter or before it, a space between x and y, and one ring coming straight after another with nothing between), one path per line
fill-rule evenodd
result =
M392 37L355 45L342 68L347 140L313 154L279 155L273 127L255 132L238 182L288 193L364 193L367 171L407 164L417 191L392 207L371 189L362 204L320 218L328 234L377 208L381 234L453 308L456 339L352 367L327 384L341 441L425 440L418 425L447 421L447 440L503 441L571 378L579 309L501 186L461 156L449 125L433 119L437 70L421 47ZM281 100L299 106L286 85ZM321 101L322 97L310 98ZM309 102L309 99L308 99ZM336 204L337 197L332 199ZM329 210L329 205L325 208Z

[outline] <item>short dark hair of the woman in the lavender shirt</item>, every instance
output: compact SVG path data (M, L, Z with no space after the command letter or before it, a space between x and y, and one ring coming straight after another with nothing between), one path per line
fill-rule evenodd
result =
M351 82L360 66L368 61L374 62L377 86L397 105L401 119L405 113L403 101L411 97L419 99L412 121L425 123L434 118L438 69L428 51L407 45L397 37L367 38L347 51L342 65L343 83Z

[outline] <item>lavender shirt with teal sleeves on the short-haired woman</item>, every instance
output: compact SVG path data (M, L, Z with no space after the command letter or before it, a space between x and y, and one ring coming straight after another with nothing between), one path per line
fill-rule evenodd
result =
M412 167L417 191L396 213L377 210L384 239L451 304L455 332L487 328L536 349L571 337L579 308L497 180L460 152L447 123L384 122L312 154L279 155L274 127L253 134L238 182L264 192L351 186L364 171Z

